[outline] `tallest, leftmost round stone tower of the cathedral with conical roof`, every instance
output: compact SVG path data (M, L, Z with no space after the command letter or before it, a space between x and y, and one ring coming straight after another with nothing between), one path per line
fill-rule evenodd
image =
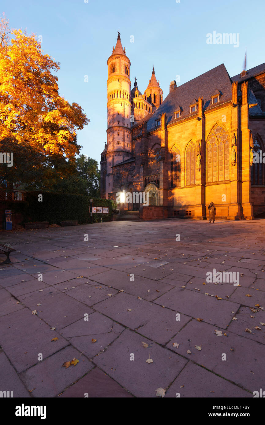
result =
M131 62L120 41L120 32L107 63L108 128L102 195L108 199L113 192L112 167L131 158Z

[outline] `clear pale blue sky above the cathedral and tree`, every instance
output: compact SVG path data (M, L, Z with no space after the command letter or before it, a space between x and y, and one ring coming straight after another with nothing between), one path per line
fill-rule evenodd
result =
M87 1L87 0L85 0ZM60 95L77 102L90 122L78 133L82 153L100 161L107 127L107 59L121 41L131 60L131 82L143 93L154 66L168 95L180 82L224 63L230 76L265 62L264 0L2 0L11 28L42 35L42 49L60 62ZM239 34L233 44L207 44L206 34ZM134 42L130 42L131 35ZM88 75L88 82L84 76Z

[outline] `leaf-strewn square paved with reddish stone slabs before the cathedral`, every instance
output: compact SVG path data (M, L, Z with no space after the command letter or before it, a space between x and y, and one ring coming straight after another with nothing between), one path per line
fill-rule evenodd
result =
M0 265L0 382L17 397L253 397L264 232L263 220L175 219L3 232L17 252Z

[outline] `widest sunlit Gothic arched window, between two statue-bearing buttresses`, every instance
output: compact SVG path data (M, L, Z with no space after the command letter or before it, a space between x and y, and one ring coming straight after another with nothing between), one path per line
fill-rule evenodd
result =
M207 146L207 181L229 180L229 140L225 128L212 130Z

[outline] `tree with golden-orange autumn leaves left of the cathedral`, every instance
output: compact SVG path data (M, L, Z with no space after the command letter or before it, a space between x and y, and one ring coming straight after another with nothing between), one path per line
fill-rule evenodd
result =
M6 18L0 20L0 151L14 152L15 167L1 164L0 178L56 178L63 170L52 171L58 161L71 163L79 154L77 130L89 119L60 96L54 75L59 69L34 34L10 30Z

